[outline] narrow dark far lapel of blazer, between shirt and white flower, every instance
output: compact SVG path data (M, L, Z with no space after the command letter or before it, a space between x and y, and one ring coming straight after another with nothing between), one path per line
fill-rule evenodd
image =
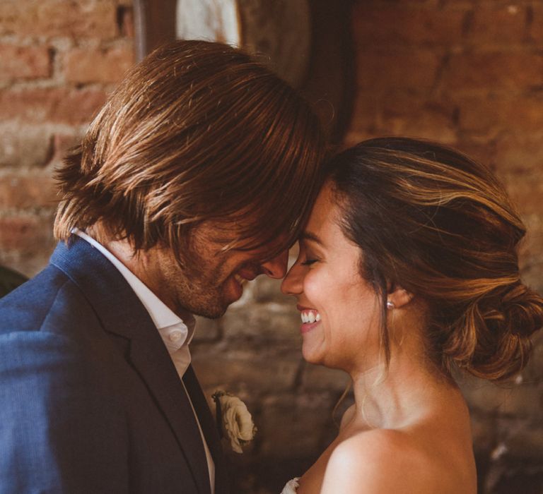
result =
M230 492L230 488L226 471L226 461L223 456L221 440L218 437L216 421L211 415L206 397L204 397L202 387L199 385L192 365L187 368L185 375L183 375L183 382L185 382L185 387L187 387L187 392L192 400L194 410L196 410L207 446L215 463L215 494L226 494Z

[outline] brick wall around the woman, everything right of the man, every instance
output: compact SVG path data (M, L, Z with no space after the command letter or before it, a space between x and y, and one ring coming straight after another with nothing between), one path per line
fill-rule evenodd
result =
M352 25L357 90L346 145L404 134L488 164L530 231L522 276L543 292L543 4L358 0ZM197 356L204 369L209 352L219 354L206 379L230 384L255 411L255 456L238 460L240 471L252 472L244 477L247 492L279 492L281 481L315 459L334 435L332 409L346 386L343 375L300 359L296 314L278 287L257 281L245 306L218 323L220 344L203 344ZM540 335L512 385L462 381L481 493L543 492L542 368Z

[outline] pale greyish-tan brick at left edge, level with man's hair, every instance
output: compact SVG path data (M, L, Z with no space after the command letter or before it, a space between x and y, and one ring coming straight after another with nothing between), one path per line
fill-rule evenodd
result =
M45 165L51 153L47 127L0 124L0 167L30 168Z

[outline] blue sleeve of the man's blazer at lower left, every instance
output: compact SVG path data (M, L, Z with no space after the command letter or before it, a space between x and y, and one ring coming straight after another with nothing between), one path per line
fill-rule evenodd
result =
M128 492L127 445L84 349L52 332L0 335L0 493Z

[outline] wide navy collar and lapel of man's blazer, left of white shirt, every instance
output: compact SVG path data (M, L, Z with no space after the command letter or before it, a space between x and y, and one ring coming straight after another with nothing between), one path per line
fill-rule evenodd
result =
M77 236L71 237L69 246L59 243L51 263L80 287L105 330L130 340L129 361L168 421L199 493L210 494L206 455L192 406L158 330L134 291L100 251Z

